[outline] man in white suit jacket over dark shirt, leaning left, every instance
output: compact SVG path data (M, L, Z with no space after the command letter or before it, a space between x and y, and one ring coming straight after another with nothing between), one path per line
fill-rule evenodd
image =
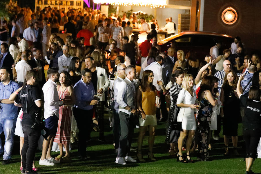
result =
M105 105L105 91L110 86L108 75L104 68L100 68L94 65L93 57L85 58L86 67L92 72L92 82L96 94L99 95L99 103L95 105L96 114L99 124L99 141L106 142L104 139L104 105Z

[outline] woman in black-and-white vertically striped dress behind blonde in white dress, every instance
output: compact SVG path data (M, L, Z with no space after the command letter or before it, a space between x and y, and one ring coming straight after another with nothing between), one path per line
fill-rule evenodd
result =
M169 89L169 95L170 95L170 101L171 101L171 106L170 106L170 114L167 120L167 137L166 137L166 142L170 143L170 149L169 149L169 154L171 156L174 156L177 154L177 140L180 137L180 131L175 131L171 130L171 122L177 121L177 115L180 111L180 107L176 105L177 102L177 97L179 95L181 88L181 84L183 81L184 77L184 72L181 70L177 70L173 75L172 75L172 86ZM176 155L175 155L176 157Z

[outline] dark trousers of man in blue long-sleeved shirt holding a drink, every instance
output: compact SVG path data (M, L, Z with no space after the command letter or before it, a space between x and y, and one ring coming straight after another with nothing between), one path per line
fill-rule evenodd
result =
M73 115L79 129L78 154L86 157L86 141L92 129L93 109L83 110L73 107Z

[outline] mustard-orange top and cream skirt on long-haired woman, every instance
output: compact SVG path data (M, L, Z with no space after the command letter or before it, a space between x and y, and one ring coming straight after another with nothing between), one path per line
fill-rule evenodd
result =
M142 91L142 109L146 114L146 119L139 117L139 126L157 126L156 118L156 91Z

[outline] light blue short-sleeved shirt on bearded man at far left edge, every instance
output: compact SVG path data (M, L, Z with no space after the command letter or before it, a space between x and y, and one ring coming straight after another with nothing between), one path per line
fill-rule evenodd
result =
M10 95L19 88L19 85L14 81L10 81L8 85L0 82L0 99L9 99ZM17 106L14 104L0 104L0 119L15 119L17 118Z

